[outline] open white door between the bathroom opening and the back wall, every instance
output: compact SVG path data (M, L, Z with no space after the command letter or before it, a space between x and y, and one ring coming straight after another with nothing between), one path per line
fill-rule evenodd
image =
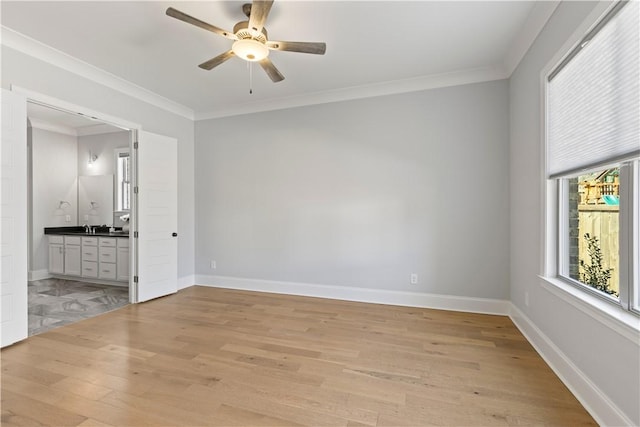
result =
M140 132L137 158L138 302L178 291L178 141Z

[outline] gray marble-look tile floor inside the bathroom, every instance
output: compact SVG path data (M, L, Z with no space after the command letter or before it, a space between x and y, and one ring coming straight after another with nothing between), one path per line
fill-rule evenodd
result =
M129 303L129 288L75 280L29 282L29 336L106 313Z

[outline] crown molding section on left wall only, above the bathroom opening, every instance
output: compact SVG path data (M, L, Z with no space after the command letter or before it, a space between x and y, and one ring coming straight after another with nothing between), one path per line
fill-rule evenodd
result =
M99 83L127 96L137 98L155 107L194 120L194 111L182 104L160 96L101 68L81 61L38 40L2 26L1 42L4 46L55 65L63 70Z

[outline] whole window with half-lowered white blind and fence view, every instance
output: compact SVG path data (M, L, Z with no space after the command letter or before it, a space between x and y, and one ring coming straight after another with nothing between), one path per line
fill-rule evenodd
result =
M640 313L640 2L615 3L552 69L545 114L551 274Z

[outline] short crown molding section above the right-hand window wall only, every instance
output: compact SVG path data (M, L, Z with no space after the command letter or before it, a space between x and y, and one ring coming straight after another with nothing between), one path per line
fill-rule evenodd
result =
M559 4L560 0L538 1L534 4L504 58L503 66L507 76L515 71Z

